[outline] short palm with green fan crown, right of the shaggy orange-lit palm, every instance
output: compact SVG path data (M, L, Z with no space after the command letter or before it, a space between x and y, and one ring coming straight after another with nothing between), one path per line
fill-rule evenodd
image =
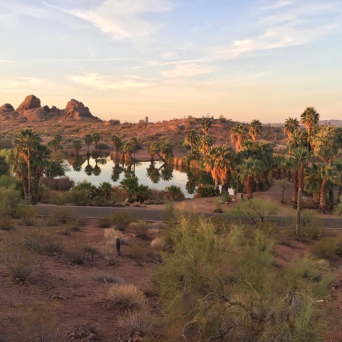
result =
M253 198L253 185L257 177L263 172L263 163L257 159L248 157L243 159L238 167L239 178L244 183L247 200Z

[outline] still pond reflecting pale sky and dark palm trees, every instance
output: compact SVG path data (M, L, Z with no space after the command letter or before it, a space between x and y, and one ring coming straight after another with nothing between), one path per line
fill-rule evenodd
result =
M186 198L193 198L198 181L198 177L195 177L191 170L182 172L161 161L136 162L134 165L115 162L110 157L98 159L90 157L85 161L74 160L72 164L66 176L75 183L87 180L96 186L102 182L119 186L125 177L135 175L139 184L147 185L151 189L163 190L165 187L175 185L181 187Z

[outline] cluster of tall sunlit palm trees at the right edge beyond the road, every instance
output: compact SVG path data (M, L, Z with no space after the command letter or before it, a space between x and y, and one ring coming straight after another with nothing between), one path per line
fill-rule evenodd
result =
M334 160L342 147L342 130L332 124L319 125L319 113L307 107L297 118L288 118L284 132L288 135L284 164L292 169L292 206L297 206L298 188L313 195L320 213L325 213L326 194L328 205L333 205L333 186L339 186L341 194L341 162ZM300 127L300 123L305 129Z

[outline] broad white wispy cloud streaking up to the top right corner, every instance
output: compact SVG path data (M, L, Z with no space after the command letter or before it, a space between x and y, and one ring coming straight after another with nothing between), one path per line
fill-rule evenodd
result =
M342 6L334 1L279 1L254 10L254 30L260 34L235 40L221 51L225 57L246 52L306 44L342 27Z

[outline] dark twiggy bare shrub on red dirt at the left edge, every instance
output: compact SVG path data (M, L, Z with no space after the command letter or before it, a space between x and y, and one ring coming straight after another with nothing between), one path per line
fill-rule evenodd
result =
M0 253L0 261L16 282L24 283L34 271L36 256L32 250L8 244Z

